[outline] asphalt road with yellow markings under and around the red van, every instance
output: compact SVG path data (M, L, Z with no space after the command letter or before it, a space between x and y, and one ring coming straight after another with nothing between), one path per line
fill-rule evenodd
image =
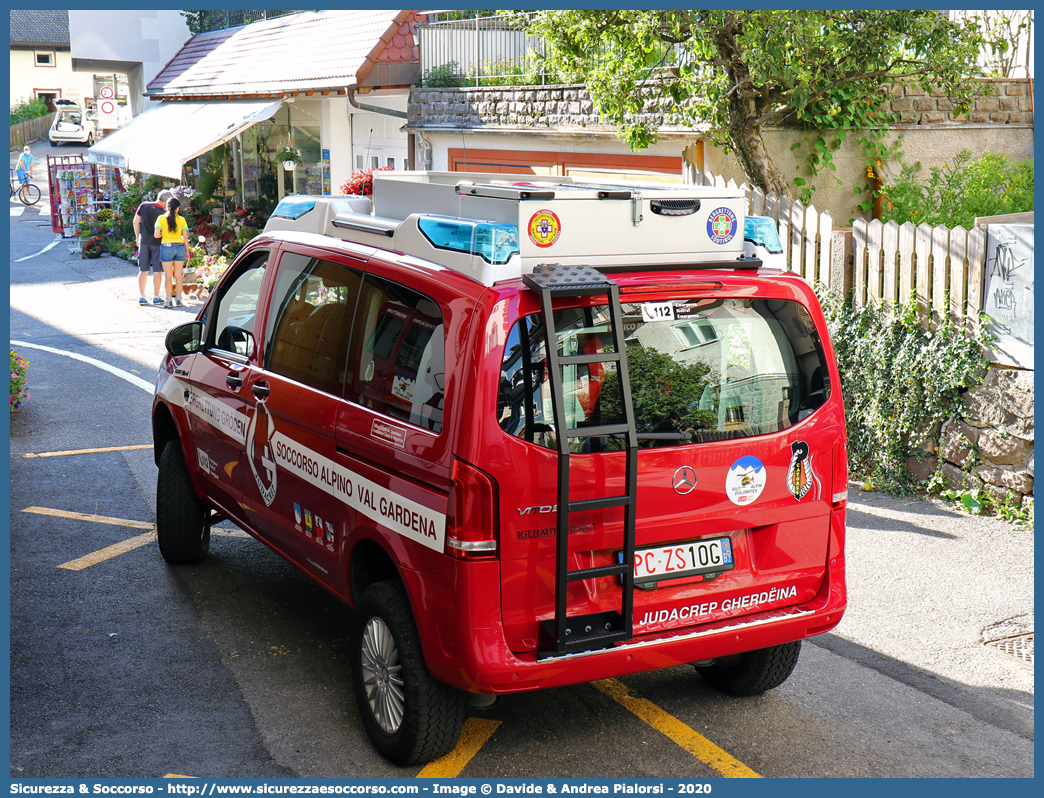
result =
M54 236L37 209L10 226L11 338L120 372L16 347L31 398L10 428L11 776L429 775L365 738L351 613L234 527L198 566L146 542L61 567L155 520L151 451L126 448L150 443L133 379L151 382L166 331L195 308L139 308L125 261L43 252ZM25 456L99 448L117 450ZM997 519L853 488L848 613L784 685L736 701L689 667L621 681L766 777L1033 776L1033 671L982 644L1033 631L1033 544ZM490 733L451 775L719 775L656 718L589 684L503 699L473 712Z

